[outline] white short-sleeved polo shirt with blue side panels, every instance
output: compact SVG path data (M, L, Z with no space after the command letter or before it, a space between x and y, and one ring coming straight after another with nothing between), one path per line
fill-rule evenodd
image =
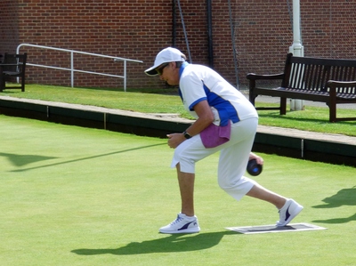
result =
M180 69L180 95L184 108L198 118L194 106L206 100L214 113L215 125L227 125L258 117L255 107L213 69L184 62Z

